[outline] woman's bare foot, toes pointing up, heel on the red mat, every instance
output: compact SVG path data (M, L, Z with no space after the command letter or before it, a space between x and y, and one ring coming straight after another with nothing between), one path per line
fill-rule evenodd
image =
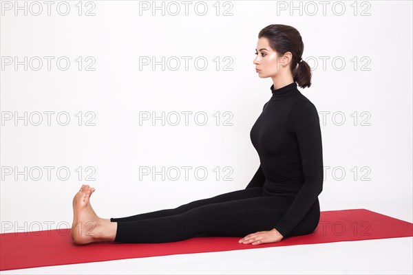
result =
M103 240L107 220L101 219L90 205L90 195L95 191L83 184L73 198L73 223L70 234L76 244L87 244Z

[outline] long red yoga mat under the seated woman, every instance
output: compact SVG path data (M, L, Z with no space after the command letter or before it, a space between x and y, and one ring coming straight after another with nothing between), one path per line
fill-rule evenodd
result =
M171 243L92 243L74 245L70 229L0 234L0 270L90 263L171 254L218 252L361 241L413 236L413 223L366 209L323 211L312 234L290 236L278 243L244 245L240 237L202 236Z

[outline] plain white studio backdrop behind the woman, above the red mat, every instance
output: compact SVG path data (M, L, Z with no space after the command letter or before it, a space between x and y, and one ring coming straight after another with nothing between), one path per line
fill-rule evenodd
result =
M278 1L278 6L277 1L205 1L204 16L195 13L196 1L189 5L187 16L180 1L176 16L171 14L176 6L170 6L169 12L165 8L165 15L162 10L152 15L151 9L140 15L142 1L93 1L94 6L83 1L81 16L78 1L67 1L71 9L67 16L56 12L56 4L50 16L45 4L39 16L29 10L27 15L24 10L15 15L14 1L12 10L5 10L4 2L0 21L1 233L47 230L51 221L52 228L70 225L72 198L82 184L96 188L92 205L104 218L175 208L245 188L260 165L249 133L271 97L273 84L271 78L255 73L257 34L273 23L299 30L305 45L303 59L313 67L313 85L299 89L315 104L323 123L326 173L319 196L321 211L366 208L412 222L411 1L343 1L346 10L341 16L339 6L336 14L332 10L334 1L325 15L319 1L312 2L318 8L315 15L310 14L315 6L306 1L293 2L295 7L301 5L296 10L290 1ZM162 2L165 7L169 3L156 3ZM287 10L279 5L287 5ZM95 15L85 16L92 7ZM232 15L223 16L224 10ZM363 11L367 15L361 16ZM5 65L5 56L16 56L18 61L39 56L43 67L32 69L37 66L34 62L27 71L23 65L16 70L14 63ZM43 56L54 57L50 71ZM66 71L56 67L61 56L71 61ZM83 67L79 71L75 61L79 56L83 66L92 56L95 70ZM181 67L176 71L168 67L162 71L160 65L140 69L142 56L156 61L175 56ZM192 58L188 70L182 56ZM202 56L209 62L203 71L193 63ZM217 57L218 70L213 61ZM231 71L224 70L229 64L225 57L231 58ZM339 68L341 61L345 65ZM50 126L43 113L47 111L55 112ZM76 117L79 111L81 126ZM85 115L88 111L96 115L95 126L84 125L91 118ZM177 126L168 122L162 126L160 120L156 125L151 121L140 125L140 113L146 111L157 115L190 111L192 115L189 125L184 124L182 113ZM208 115L204 126L193 120L193 114L202 111ZM233 115L232 126L224 126L229 118L223 114L226 111ZM40 112L43 123L4 120L10 112L20 116L28 112L28 117ZM57 123L59 112L70 114L67 126ZM220 112L218 125L216 112ZM38 117L34 118L36 122ZM343 124L341 118L345 118ZM36 166L43 171L38 181L33 179L36 172L32 177L26 173L27 180L24 173L16 175ZM51 180L44 166L54 167ZM81 180L76 172L79 166ZM85 180L88 166L95 169L93 181ZM176 181L162 180L160 175L153 180L151 175L140 179L142 166L155 166L158 171L162 166L193 169L188 180L183 169ZM231 173L224 170L226 166L233 169ZM11 175L5 173L8 167ZM69 179L56 177L59 167L70 170ZM197 167L208 171L205 180L194 177ZM223 180L227 174L232 180Z

